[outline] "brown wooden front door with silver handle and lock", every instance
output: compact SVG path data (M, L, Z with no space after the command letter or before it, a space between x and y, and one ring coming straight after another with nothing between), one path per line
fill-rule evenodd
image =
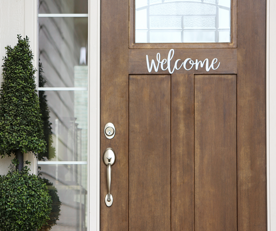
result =
M232 1L231 43L207 45L134 44L133 2L101 3L100 229L265 231L265 1Z

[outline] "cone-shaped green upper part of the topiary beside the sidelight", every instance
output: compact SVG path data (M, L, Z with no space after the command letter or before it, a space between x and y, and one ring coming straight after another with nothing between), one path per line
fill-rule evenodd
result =
M0 155L17 150L45 152L43 124L39 109L29 40L18 35L15 47L6 47L3 83L0 90Z

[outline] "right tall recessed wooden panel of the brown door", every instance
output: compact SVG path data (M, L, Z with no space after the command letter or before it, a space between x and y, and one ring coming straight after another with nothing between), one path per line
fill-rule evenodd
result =
M237 230L236 76L195 76L195 230Z

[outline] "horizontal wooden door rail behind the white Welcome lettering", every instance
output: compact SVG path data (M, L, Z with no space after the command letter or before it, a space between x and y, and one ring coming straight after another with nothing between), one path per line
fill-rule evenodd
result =
M170 49L129 49L129 73L130 74L149 74L147 68L146 55L149 57L149 64L151 64L152 59L156 61L156 54L160 53L160 60L167 59ZM236 49L174 49L174 57L171 60L171 70L174 67L174 63L177 59L181 59L178 64L178 68L185 59L191 58L194 62L196 59L201 60L202 62L208 58L209 66L211 61L214 58L217 58L218 61L214 64L214 68L220 66L218 69L210 69L209 72L206 71L206 65L201 68L200 65L198 70L195 66L189 71L185 70L182 66L179 70L174 70L174 74L236 74L237 73L237 50ZM167 63L164 64L164 69L167 67ZM191 64L189 62L186 65L186 68L189 69ZM152 67L152 72L150 74L169 74L168 70L163 71L161 65L159 65L158 72L154 71Z

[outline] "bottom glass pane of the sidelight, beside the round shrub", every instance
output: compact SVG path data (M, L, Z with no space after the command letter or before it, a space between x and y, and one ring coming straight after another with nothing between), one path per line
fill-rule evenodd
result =
M52 231L87 230L87 165L41 165L41 177L53 182L61 202Z

